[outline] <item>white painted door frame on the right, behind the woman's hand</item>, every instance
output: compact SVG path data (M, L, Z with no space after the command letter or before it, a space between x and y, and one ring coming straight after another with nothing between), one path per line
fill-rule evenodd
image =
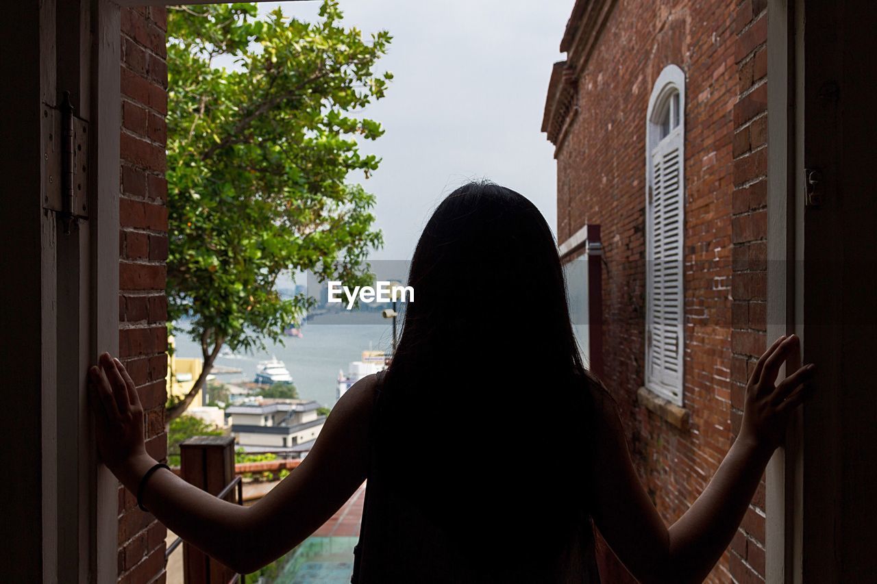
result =
M795 333L803 345L803 193L795 180L803 172L803 0L769 0L767 13L767 343ZM766 469L768 584L802 581L801 445L798 411Z

